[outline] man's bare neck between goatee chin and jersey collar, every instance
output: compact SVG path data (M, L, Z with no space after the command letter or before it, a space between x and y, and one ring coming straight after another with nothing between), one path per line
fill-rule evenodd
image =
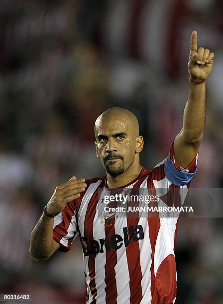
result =
M121 186L129 184L131 181L136 179L136 177L139 175L140 171L142 169L142 166L137 164L132 164L127 170L125 170L122 174L112 176L107 173L108 177L108 187L109 188L120 188Z

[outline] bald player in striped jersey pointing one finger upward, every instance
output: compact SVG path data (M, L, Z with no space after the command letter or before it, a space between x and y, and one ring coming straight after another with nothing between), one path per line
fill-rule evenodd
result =
M95 123L96 153L106 176L90 180L73 176L57 186L33 228L30 256L36 262L48 259L56 250L69 251L79 235L87 303L175 302L178 218L157 213L152 216L148 210L141 212L139 205L149 198L151 206L170 206L174 204L174 197L167 195L170 190L178 191L180 206L183 204L182 190L187 189L197 169L205 125L206 79L212 71L213 58L208 49L197 50L194 31L183 127L166 159L152 171L141 166L143 138L137 118L126 109L108 109ZM136 202L129 194L137 197ZM173 202L167 201L168 197Z

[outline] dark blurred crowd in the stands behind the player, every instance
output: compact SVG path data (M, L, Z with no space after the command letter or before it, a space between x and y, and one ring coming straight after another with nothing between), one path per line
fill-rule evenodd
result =
M104 175L94 122L133 111L152 169L182 126L190 36L215 52L192 187L223 187L223 1L0 0L0 293L84 303L81 246L31 261L29 234L55 187ZM176 304L223 303L223 220L182 219Z

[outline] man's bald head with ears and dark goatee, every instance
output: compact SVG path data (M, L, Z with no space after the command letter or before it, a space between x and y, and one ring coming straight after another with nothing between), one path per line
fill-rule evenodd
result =
M116 176L131 165L139 165L143 138L136 116L123 108L103 112L95 122L96 153L106 171Z

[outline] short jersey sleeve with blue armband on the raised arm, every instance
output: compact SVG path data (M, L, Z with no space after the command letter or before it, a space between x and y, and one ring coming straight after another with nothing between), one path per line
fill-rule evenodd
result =
M198 161L198 152L195 158L188 166L188 168L178 167L175 163L173 144L172 144L170 153L168 154L167 158L164 161L164 172L167 179L171 183L177 186L186 185L191 181L192 177L197 172L197 161Z

